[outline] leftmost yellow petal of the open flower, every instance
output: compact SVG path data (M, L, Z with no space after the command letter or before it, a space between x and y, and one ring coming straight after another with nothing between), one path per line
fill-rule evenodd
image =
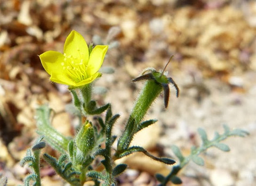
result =
M39 55L41 63L47 73L52 75L52 73L62 73L63 66L61 65L64 62L63 54L56 51L47 51Z

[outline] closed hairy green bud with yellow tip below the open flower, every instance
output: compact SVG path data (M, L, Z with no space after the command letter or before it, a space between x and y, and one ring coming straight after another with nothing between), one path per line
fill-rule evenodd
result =
M76 136L76 146L86 156L95 144L94 129L90 122L86 121Z

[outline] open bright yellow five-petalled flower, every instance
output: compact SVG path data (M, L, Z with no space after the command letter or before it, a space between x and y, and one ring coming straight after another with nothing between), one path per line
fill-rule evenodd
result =
M73 30L65 41L63 54L50 50L39 57L45 71L51 75L51 81L80 87L101 76L98 70L107 50L107 45L97 45L89 55L83 36Z

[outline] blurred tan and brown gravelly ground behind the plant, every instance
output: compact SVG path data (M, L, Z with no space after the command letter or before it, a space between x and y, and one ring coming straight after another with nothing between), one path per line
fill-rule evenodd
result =
M256 2L243 0L0 0L0 176L8 185L22 184L27 168L19 165L38 136L38 105L54 109L53 125L73 136L76 118L66 112L67 87L51 83L39 54L62 52L71 30L87 44L110 45L103 67L115 69L96 82L99 104L110 102L124 128L141 82L131 80L146 67L166 71L180 88L171 87L169 107L156 100L147 119L158 122L134 139L156 156L173 157L175 144L186 155L200 145L197 128L213 137L223 124L250 132L229 138L228 153L210 149L205 166L190 163L180 173L182 185L256 185ZM103 71L103 70L102 70ZM58 154L50 147L45 151ZM129 169L118 185L156 185L155 173L166 167L135 154L121 160ZM42 184L65 185L42 160Z

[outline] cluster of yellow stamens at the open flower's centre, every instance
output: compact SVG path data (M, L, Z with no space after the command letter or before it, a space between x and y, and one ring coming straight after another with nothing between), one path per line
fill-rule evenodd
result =
M64 62L61 63L63 70L67 73L70 79L76 83L87 78L86 68L83 58L73 57L72 55L64 55ZM80 60L81 59L81 60Z

